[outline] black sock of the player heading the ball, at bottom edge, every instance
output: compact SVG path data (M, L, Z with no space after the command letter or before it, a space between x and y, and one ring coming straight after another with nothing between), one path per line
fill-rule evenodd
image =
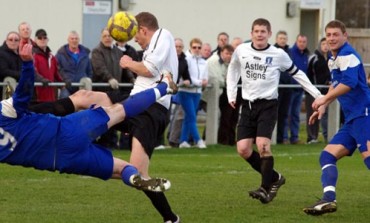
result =
M163 220L175 222L177 216L172 212L170 204L163 192L144 191L145 195L151 200L153 206L163 217Z

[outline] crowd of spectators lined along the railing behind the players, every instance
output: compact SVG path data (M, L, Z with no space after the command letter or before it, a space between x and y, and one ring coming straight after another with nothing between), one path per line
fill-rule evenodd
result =
M248 40L240 37L230 39L226 32L217 36L217 45L214 49L210 43L204 43L194 37L188 44L181 38L175 38L178 55L179 92L172 96L171 114L166 134L171 147L200 149L207 148L205 143L205 128L199 132L197 113L207 112L207 100L217 97L219 101L219 129L218 143L223 145L236 144L236 126L239 120L241 91L238 90L236 108L232 108L227 98L226 75L228 65L234 50ZM142 51L136 50L125 42L116 42L109 35L107 29L101 31L100 41L94 49L88 49L80 43L79 33L71 31L67 34L67 43L61 46L54 55L48 47L48 34L44 29L38 29L32 37L31 25L22 22L18 31L7 34L0 47L0 82L5 77L19 80L21 73L21 59L18 54L20 43L31 43L34 53L35 80L42 86L36 86L33 104L52 102L66 98L78 90L72 83L80 82L82 78L91 78L93 83L107 83L108 87L94 87L94 91L116 92L128 95L132 87L121 87L120 83L134 84L137 74L120 66L120 59L128 55L134 61L141 61ZM306 73L315 85L328 85L330 74L326 62L328 59L328 45L325 38L319 41L314 53L307 49L307 37L299 34L292 47L288 44L288 34L281 30L276 34L275 46L289 54L294 64ZM187 46L187 47L185 47ZM50 86L52 82L64 82L64 86ZM286 72L280 75L279 84L296 84ZM210 94L209 86L218 86L219 95ZM2 90L2 89L1 89ZM320 89L322 94L327 88ZM300 114L302 99L305 98L307 122L312 114L314 98L303 94L301 88L279 88L277 143L297 144L299 139ZM317 143L319 140L320 124L306 125L307 144ZM327 141L327 116L321 120L322 134ZM164 139L162 140L164 144ZM97 139L97 143L115 149L128 148L128 137L125 132L110 129ZM163 148L163 145L158 145Z

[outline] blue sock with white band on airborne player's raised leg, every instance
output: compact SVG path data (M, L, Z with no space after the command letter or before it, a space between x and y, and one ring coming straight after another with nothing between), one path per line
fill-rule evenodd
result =
M157 99L167 94L167 84L159 83L155 88L150 88L128 97L122 102L126 118L134 117L154 104Z

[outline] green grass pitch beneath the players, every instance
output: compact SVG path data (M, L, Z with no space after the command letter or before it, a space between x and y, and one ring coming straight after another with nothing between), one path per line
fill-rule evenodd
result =
M267 205L247 196L260 176L235 147L155 151L151 175L167 177L166 192L182 222L369 222L370 181L356 153L338 163L338 211L319 217L302 208L321 196L318 157L324 145L274 146L275 167L287 179ZM128 159L129 152L115 151ZM144 194L120 181L0 165L0 222L162 222Z

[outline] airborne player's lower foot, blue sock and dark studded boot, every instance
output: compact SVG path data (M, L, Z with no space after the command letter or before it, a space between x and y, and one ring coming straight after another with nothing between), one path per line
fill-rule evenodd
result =
M122 170L121 176L125 184L135 187L138 190L164 192L171 187L171 182L164 178L142 178L138 170L132 165L127 165Z

